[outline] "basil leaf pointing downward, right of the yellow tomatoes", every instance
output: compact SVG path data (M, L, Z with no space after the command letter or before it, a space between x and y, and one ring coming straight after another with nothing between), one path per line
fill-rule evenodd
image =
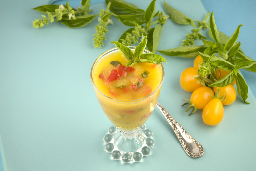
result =
M244 103L250 104L246 101L248 98L248 85L245 82L245 79L242 75L237 73L236 76L236 86L237 86L237 93L242 97Z

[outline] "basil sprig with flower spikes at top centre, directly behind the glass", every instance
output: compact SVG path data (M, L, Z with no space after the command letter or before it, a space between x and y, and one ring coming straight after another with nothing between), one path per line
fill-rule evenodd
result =
M140 37L147 36L147 49L155 53L160 42L162 28L169 17L163 15L163 12L156 12L156 0L151 1L146 11L123 0L106 0L106 3L109 2L112 3L110 10L114 16L124 25L133 27L126 30L118 42L130 46L138 43Z

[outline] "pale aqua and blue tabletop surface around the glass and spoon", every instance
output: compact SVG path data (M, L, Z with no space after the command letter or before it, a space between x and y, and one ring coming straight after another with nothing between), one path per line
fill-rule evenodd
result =
M201 1L166 0L195 20L202 20L206 10L215 11L218 29L229 36L238 25L244 24L238 40L245 54L256 60L256 2ZM205 154L197 159L188 157L156 109L146 123L155 141L151 155L140 163L128 165L113 161L104 152L102 141L112 124L98 105L89 73L96 57L112 48L109 42L117 40L117 33L126 28L114 19L115 24L108 26L110 32L102 49L94 49L90 41L96 20L86 28L70 29L60 23L32 28L32 21L40 14L30 9L48 2L0 2L5 7L0 10L0 170L254 169L256 74L242 71L252 91L248 97L251 104L243 104L238 97L234 104L225 106L222 123L211 127L203 123L202 111L188 117L181 108L182 100L191 93L184 92L177 80L193 59L171 57L166 57L164 64L166 77L159 101L203 145ZM91 4L97 2L104 1L92 0ZM145 10L150 1L129 2ZM76 4L74 1L75 7ZM101 8L105 8L104 3L91 6L95 13ZM157 9L164 11L161 0L157 1ZM179 46L181 35L190 29L168 21L159 49Z

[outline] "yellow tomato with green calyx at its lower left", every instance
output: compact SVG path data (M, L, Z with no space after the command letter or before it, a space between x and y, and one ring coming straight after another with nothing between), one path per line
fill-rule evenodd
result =
M211 88L202 86L193 91L190 101L197 109L203 109L212 100L211 94L214 96Z

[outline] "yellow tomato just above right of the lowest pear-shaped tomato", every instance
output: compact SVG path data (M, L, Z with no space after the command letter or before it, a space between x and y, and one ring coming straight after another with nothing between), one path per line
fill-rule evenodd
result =
M213 91L216 94L217 90L220 91L220 97L224 95L226 98L222 100L223 105L230 105L236 100L236 90L232 85L227 85L225 87L213 87Z

